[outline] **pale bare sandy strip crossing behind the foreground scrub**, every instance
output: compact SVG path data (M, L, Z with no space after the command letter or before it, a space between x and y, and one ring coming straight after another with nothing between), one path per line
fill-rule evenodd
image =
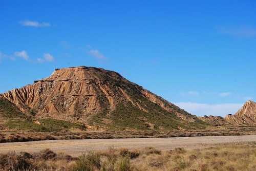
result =
M85 140L49 140L33 142L1 143L0 153L6 152L38 152L50 148L55 152L66 152L72 156L81 155L91 150L107 149L109 147L143 148L146 146L158 149L201 148L217 143L255 141L256 135L246 136L216 136L216 137L179 137L179 138L130 138L130 139L85 139Z

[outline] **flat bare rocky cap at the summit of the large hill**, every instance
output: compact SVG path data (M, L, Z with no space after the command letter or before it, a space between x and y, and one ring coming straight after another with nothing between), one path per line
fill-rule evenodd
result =
M87 79L100 79L102 77L112 77L112 78L123 78L120 74L104 70L102 68L96 67L69 67L69 68L61 68L55 69L54 72L47 78L43 78L38 81L68 81L68 80L87 80Z

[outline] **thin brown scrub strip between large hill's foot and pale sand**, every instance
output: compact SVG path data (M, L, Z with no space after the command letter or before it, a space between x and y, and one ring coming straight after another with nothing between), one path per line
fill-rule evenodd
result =
M0 143L58 139L167 138L196 136L255 135L256 126L216 127L204 131L77 131L77 132L0 132Z

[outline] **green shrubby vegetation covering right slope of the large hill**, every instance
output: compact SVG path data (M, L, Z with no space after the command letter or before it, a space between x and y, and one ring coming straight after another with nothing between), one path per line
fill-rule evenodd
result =
M145 98L138 85L135 86L128 80L119 80L112 77L102 77L103 82L108 84L108 87L113 88L112 91L118 94L117 87L126 91L134 103L139 104L147 112L141 110L137 105L133 105L126 98L120 98L115 108L110 110L110 103L105 94L94 85L97 92L97 100L101 107L101 112L90 117L89 123L106 130L190 130L190 129L206 129L212 124L199 120L197 117L188 114L181 110L176 105L172 104L173 111L166 111L160 105ZM139 87L141 88L141 87ZM141 88L142 89L142 88ZM160 98L160 97L159 97ZM164 105L169 106L167 101L162 99ZM175 112L191 118L194 121L187 121L178 118ZM108 120L108 121L106 121Z

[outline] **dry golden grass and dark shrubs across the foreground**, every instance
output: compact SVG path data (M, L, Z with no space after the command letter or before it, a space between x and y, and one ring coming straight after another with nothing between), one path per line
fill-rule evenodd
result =
M74 158L45 149L0 154L1 170L256 170L256 142L218 144L202 149L160 151L112 148Z

